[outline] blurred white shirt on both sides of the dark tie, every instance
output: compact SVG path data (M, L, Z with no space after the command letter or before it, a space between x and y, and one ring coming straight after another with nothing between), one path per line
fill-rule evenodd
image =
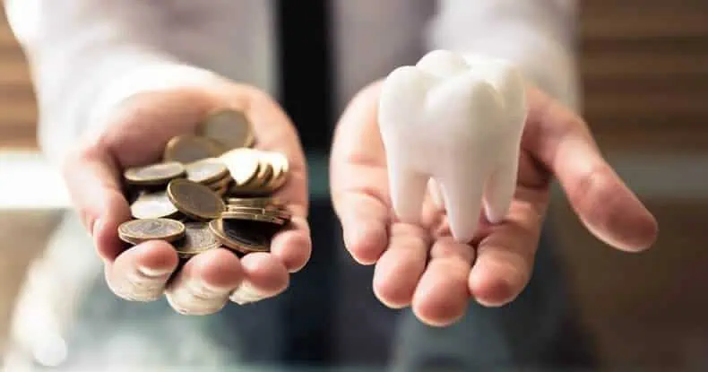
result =
M38 93L39 143L59 159L118 100L207 71L276 93L268 0L4 0ZM576 107L576 0L332 0L338 111L437 48L510 59Z

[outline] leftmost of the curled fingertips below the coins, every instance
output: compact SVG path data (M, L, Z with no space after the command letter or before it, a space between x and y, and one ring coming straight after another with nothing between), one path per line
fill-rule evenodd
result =
M162 296L171 273L177 268L177 253L168 243L151 240L131 247L106 264L108 287L118 297L153 301Z

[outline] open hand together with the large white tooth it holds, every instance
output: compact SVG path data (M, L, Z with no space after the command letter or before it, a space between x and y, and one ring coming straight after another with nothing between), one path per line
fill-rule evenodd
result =
M583 118L514 65L430 52L359 92L337 126L330 185L344 243L376 264L377 298L427 324L522 292L554 179L610 246L638 251L656 238Z

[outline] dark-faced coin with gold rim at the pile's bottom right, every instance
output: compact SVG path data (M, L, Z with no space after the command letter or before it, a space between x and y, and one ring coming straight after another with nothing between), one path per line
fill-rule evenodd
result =
M259 229L245 229L221 219L209 222L209 229L222 245L241 253L268 252L271 237Z

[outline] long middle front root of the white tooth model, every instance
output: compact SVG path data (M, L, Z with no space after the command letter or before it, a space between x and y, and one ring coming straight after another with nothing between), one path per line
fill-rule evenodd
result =
M465 164L464 169L457 169L441 179L447 220L453 238L460 243L468 243L474 238L479 222L486 172L477 165L468 167Z

